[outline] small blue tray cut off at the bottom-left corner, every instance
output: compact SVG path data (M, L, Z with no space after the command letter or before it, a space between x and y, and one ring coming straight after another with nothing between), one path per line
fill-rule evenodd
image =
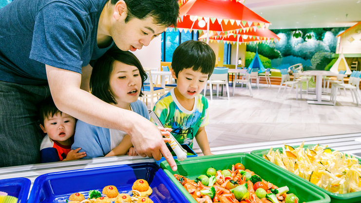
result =
M18 203L26 203L31 181L27 178L10 178L0 180L0 191L18 198Z

